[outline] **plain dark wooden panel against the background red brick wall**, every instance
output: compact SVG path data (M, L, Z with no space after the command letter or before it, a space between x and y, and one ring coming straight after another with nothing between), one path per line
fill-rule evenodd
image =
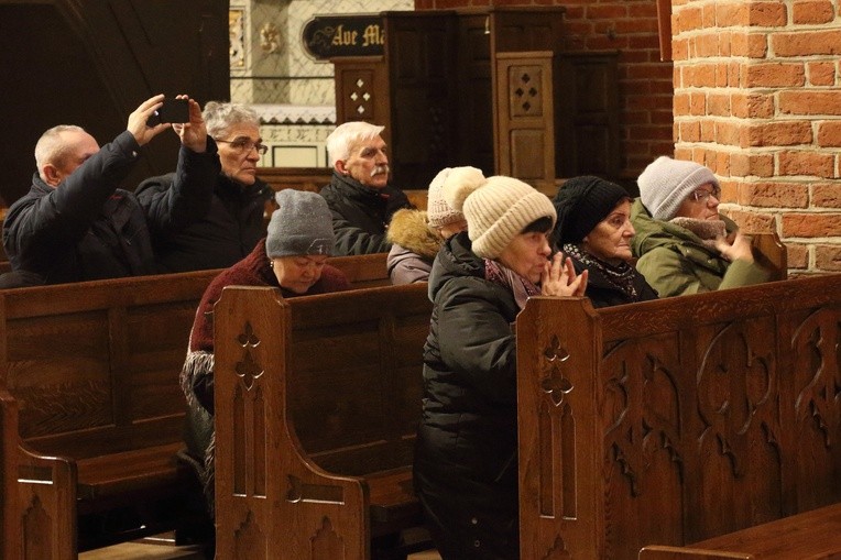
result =
M619 53L561 53L555 80L559 177L619 174Z

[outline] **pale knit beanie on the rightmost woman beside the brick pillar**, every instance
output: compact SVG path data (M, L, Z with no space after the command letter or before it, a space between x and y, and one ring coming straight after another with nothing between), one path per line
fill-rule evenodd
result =
M640 198L655 220L668 221L680 204L698 187L707 184L720 189L719 179L701 164L662 155L648 164L636 179Z

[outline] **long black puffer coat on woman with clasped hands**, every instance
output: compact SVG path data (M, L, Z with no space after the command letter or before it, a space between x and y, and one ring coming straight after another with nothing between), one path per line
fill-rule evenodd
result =
M510 289L467 232L433 264L415 490L444 558L517 558L516 348ZM477 542L479 543L477 546Z

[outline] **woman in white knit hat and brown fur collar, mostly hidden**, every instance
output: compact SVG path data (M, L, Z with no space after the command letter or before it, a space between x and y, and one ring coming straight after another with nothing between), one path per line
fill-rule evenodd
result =
M476 167L447 167L429 183L426 210L404 208L394 212L386 232L392 246L385 262L392 284L426 282L444 241L467 229L465 215L451 208L441 194L450 174L463 175L465 180L484 180Z

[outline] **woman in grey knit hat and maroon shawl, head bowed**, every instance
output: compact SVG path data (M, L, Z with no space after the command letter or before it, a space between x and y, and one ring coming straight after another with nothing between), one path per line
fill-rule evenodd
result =
M226 286L272 286L283 297L350 288L345 274L326 264L334 248L332 217L316 193L284 189L275 195L266 238L245 259L222 271L205 290L196 310L189 349L181 373L189 405L187 448L196 460L205 495L214 495L214 305Z

